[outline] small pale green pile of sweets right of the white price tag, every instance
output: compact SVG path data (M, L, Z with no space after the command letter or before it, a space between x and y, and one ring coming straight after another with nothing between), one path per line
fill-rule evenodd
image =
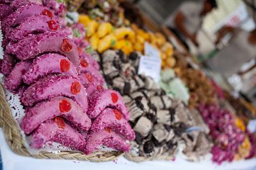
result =
M189 90L185 87L182 80L175 75L173 69L164 69L164 71L161 71L159 85L168 96L188 104Z

